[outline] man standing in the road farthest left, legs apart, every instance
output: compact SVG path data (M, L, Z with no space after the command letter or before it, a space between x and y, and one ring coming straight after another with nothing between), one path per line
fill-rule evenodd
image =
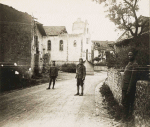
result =
M52 81L53 81L53 89L54 89L55 80L56 80L57 76L58 76L58 69L55 66L55 61L53 61L52 66L50 67L50 70L49 70L50 82L49 82L49 87L47 89L51 88Z

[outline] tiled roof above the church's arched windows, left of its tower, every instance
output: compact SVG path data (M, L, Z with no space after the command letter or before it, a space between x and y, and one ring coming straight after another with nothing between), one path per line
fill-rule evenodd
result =
M67 33L65 26L44 26L48 36L58 36L59 34Z

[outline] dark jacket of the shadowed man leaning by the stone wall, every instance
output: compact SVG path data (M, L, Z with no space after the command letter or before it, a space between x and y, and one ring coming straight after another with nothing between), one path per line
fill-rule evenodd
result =
M136 89L136 82L138 80L138 64L136 61L129 62L125 67L124 76L123 76L123 87L122 90L131 90Z

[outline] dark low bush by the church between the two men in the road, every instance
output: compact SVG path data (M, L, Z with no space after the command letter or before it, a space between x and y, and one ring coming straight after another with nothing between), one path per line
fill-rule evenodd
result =
M61 71L69 72L69 73L76 73L76 64L63 64L61 66Z

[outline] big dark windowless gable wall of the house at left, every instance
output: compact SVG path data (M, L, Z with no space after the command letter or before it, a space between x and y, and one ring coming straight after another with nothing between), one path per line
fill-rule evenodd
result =
M31 64L31 19L27 13L0 4L0 62L17 63L22 69Z

